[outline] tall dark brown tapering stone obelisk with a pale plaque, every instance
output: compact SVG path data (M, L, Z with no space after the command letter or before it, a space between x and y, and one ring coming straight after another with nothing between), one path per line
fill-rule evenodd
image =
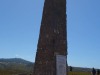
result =
M66 74L66 0L45 0L33 75Z

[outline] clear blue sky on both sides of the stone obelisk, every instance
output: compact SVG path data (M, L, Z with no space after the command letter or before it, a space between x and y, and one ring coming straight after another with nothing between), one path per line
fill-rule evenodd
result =
M34 62L44 0L0 0L0 58ZM100 0L67 0L68 64L100 68Z

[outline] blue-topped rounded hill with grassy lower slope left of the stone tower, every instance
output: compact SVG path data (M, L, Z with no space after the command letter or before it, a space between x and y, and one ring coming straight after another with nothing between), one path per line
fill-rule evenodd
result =
M32 73L33 66L34 63L21 58L0 59L0 71L9 71L14 73Z

